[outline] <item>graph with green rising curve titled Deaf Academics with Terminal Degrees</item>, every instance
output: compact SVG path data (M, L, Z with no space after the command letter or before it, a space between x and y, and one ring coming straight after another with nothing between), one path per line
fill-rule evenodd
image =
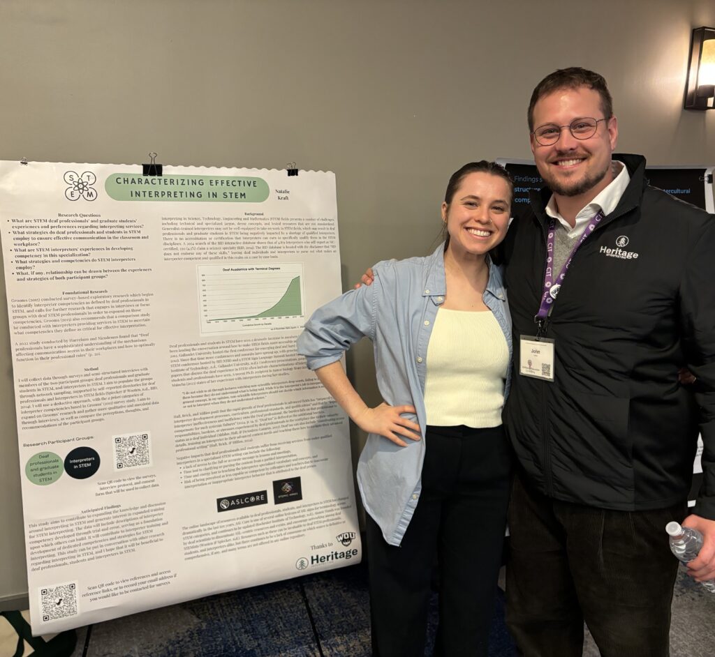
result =
M199 266L197 274L202 334L303 324L300 263Z

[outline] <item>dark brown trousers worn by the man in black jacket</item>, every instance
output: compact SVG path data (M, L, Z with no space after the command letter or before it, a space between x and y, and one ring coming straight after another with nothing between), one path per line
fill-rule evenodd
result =
M665 526L686 503L609 511L548 498L516 473L507 626L526 657L581 657L586 621L603 657L667 657L678 561Z

